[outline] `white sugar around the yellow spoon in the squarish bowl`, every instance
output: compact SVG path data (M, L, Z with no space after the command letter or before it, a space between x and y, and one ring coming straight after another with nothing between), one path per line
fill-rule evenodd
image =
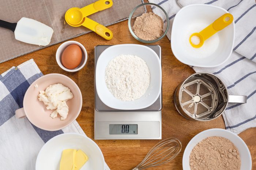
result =
M191 36L192 33L200 32L207 26L208 24L205 24L205 23L191 24L186 28L187 31L181 37L181 39L184 41L184 44L185 44L184 50L186 50L188 54L193 58L206 58L212 55L219 47L218 32L215 33L210 38L208 38L206 41L204 41L203 46L200 48L194 48L189 43L189 37Z

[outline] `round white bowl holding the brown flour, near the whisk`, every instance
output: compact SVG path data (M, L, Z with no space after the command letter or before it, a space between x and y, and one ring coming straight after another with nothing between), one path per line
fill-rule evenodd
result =
M250 151L246 146L245 142L238 135L225 129L208 129L195 135L195 137L193 137L191 141L189 141L182 158L182 167L184 170L190 170L189 156L193 148L197 145L197 143L199 143L205 138L213 136L223 137L229 139L232 143L234 143L240 154L241 170L252 169L252 158Z

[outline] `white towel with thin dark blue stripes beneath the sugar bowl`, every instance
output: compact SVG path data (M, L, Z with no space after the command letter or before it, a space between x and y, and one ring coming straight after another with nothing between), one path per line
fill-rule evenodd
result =
M229 104L223 118L226 129L236 134L256 127L256 3L255 0L149 0L161 5L169 15L170 39L176 13L186 5L211 4L222 7L234 16L236 37L229 60L214 68L193 67L196 72L211 72L227 85L230 94L247 95L246 104ZM160 13L157 8L153 12Z

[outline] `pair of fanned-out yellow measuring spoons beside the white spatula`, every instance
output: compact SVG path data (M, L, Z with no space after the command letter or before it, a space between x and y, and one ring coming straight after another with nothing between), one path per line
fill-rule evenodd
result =
M68 25L72 27L79 27L82 25L86 28L89 28L91 31L96 32L104 39L111 40L113 38L112 31L110 31L110 29L106 28L105 26L95 22L94 20L89 19L87 16L95 12L108 9L112 7L112 5L112 0L99 0L83 8L70 8L65 13L65 20Z

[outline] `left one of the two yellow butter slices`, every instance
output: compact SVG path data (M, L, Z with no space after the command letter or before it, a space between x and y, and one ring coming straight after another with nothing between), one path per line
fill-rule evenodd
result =
M65 149L62 151L60 160L60 170L74 170L75 169L75 149Z

